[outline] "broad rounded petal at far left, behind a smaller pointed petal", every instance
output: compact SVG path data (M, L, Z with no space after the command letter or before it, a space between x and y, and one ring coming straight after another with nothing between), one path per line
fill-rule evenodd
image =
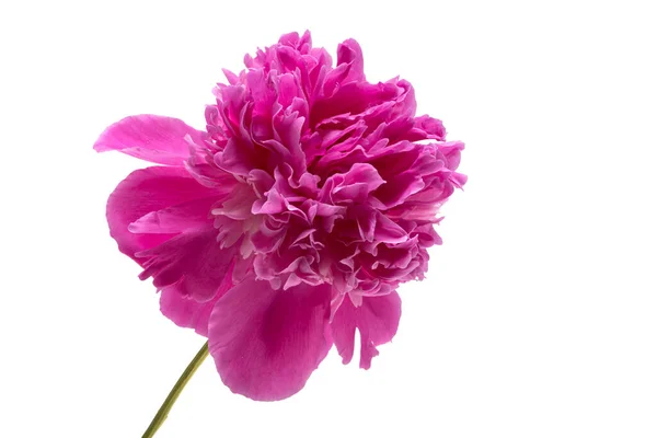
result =
M107 199L110 234L118 249L138 263L135 253L157 246L176 233L137 234L128 230L139 218L178 204L214 196L184 168L148 168L122 181ZM211 223L211 221L209 222Z

